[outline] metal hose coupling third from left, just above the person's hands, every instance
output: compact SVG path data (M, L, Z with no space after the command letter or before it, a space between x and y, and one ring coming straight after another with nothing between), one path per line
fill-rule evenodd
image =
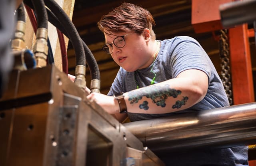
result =
M86 88L86 81L85 81L85 71L86 68L84 65L76 65L76 70L75 70L75 84L83 89L85 91Z

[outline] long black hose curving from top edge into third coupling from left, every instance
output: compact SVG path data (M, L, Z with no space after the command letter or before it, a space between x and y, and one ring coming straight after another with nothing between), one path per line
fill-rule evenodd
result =
M76 54L76 65L85 66L85 52L82 44L82 40L76 30L76 27L71 22L68 15L54 0L44 0L46 6L54 13L54 15L62 22L62 26L66 29L68 36L72 42L72 45ZM65 24L64 24L65 23Z

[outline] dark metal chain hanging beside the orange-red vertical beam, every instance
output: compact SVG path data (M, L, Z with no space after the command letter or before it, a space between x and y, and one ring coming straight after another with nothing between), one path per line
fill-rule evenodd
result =
M220 30L220 60L221 60L221 80L228 96L230 105L233 105L232 96L232 83L231 83L231 72L230 72L230 61L229 61L229 46L228 46L228 30Z

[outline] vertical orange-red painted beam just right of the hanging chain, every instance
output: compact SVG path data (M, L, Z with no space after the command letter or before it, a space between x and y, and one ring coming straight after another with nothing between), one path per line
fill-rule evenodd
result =
M229 29L234 105L254 102L252 64L247 24Z

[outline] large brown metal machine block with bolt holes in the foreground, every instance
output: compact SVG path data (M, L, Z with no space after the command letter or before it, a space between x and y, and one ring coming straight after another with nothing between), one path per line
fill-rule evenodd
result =
M13 71L0 99L0 165L164 165L86 95L51 65Z

